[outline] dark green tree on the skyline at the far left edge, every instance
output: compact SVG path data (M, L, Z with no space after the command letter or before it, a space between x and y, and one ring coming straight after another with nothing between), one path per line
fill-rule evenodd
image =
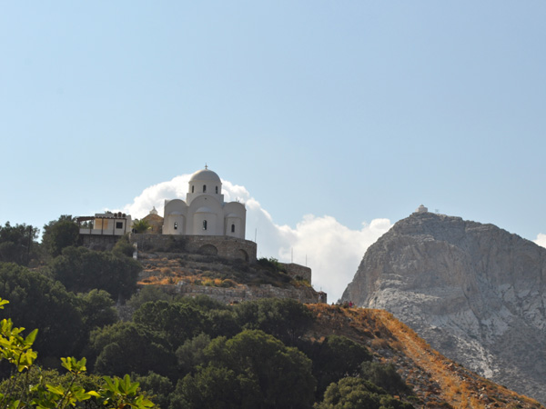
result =
M0 262L28 265L39 254L37 237L38 229L32 225L0 225Z

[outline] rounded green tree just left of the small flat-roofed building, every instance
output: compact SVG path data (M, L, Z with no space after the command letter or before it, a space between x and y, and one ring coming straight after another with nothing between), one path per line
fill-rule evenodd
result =
M69 214L63 214L57 220L44 225L42 245L53 257L60 255L66 247L77 245L78 241L79 226Z

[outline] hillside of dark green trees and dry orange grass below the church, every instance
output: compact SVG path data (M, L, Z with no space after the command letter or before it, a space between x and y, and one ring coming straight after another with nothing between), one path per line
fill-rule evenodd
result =
M53 237L59 245L39 263L29 253L21 264L0 262L0 297L10 301L0 318L38 329L34 370L19 376L26 384L47 388L68 382L75 391L101 391L100 375L131 374L132 381L124 377L124 383L136 381L165 409L542 407L436 353L384 311L279 297L226 304L164 291L173 287L164 279L216 286L219 292L261 284L279 292L287 291L285 286L308 290L272 259L247 264L153 254L141 265L132 259L128 242L96 252L66 246L57 240L63 234ZM5 248L17 243L14 239ZM160 279L138 290L138 276L143 283ZM88 370L77 376L79 384L58 372L59 358L66 355L77 356L70 362ZM0 399L15 390L25 399L39 397L39 391L14 384L1 365L0 376ZM132 385L137 393L138 385Z

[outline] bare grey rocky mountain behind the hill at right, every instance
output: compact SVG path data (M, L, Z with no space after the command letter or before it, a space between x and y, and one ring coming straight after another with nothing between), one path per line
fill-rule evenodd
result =
M369 247L342 300L388 310L441 354L544 403L545 281L541 246L420 213Z

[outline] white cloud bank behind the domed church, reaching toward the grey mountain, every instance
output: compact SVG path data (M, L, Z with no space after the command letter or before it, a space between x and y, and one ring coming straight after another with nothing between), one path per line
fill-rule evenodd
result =
M163 214L165 199L185 199L191 175L180 175L144 189L123 212L141 218L153 206ZM329 215L307 214L295 228L275 224L270 214L241 185L222 181L222 193L227 202L238 200L247 206L247 238L258 243L258 257L275 257L279 261L306 264L313 271L313 286L328 293L335 302L352 280L360 260L370 244L386 233L392 224L389 219L375 219L363 223L359 230L351 230ZM294 211L305 209L294 209ZM546 241L546 236L544 236Z

